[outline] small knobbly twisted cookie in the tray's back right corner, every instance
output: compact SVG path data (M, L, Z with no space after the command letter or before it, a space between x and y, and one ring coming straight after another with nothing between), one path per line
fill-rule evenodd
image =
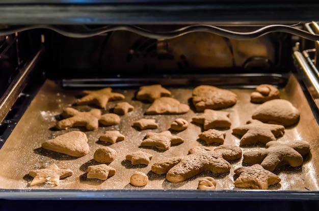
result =
M264 103L269 100L279 99L280 92L276 86L261 84L256 87L256 91L250 95L252 103Z

